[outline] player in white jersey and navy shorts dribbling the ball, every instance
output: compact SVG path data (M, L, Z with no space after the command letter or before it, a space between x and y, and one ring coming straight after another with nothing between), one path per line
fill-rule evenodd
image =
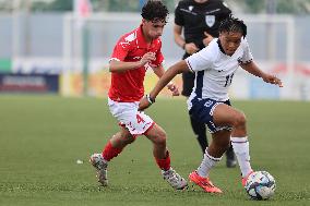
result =
M230 141L241 170L243 186L249 174L253 172L250 165L247 119L243 112L231 107L228 97L228 88L238 66L266 83L282 87L279 78L261 71L254 63L246 35L247 26L242 21L233 16L224 20L219 26L218 38L213 39L203 50L170 66L150 95L140 101L140 110L144 110L177 74L186 71L195 73L188 109L193 118L207 124L212 143L205 149L200 167L190 173L189 179L208 193L222 193L220 189L210 181L208 174L222 159Z

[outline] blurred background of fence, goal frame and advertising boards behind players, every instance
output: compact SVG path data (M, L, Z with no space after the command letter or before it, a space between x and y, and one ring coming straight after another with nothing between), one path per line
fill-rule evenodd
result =
M0 0L0 93L53 93L105 97L108 59L118 38L139 26L143 0ZM165 65L182 50L172 37L177 0L163 35ZM248 25L248 41L262 70L284 88L239 70L230 96L238 99L310 100L310 1L226 1ZM145 87L156 83L146 75ZM181 85L178 76L175 82ZM168 95L167 92L163 95Z

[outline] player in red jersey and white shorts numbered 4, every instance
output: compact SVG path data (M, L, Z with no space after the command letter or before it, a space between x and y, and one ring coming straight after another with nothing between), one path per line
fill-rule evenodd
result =
M183 189L187 181L170 166L170 155L166 147L166 133L144 112L138 111L139 100L144 95L144 76L147 69L160 77L162 40L168 10L160 1L147 1L142 8L142 23L134 31L123 35L115 46L109 70L111 86L108 94L110 112L118 119L120 132L107 143L102 154L91 156L91 162L97 170L98 182L107 185L107 166L122 149L134 142L136 136L145 135L153 143L153 155L164 179L175 189ZM172 95L179 95L178 88L169 84Z

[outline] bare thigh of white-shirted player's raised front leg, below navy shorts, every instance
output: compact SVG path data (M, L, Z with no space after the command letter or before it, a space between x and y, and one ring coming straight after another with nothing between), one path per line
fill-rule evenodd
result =
M242 121L243 119L246 119L243 112L225 104L217 105L213 111L213 122L216 125L233 126L236 121Z

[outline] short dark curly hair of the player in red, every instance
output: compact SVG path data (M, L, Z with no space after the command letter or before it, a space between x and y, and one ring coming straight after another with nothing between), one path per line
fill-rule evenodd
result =
M167 22L168 14L167 7L159 0L148 0L141 12L142 17L147 21Z

